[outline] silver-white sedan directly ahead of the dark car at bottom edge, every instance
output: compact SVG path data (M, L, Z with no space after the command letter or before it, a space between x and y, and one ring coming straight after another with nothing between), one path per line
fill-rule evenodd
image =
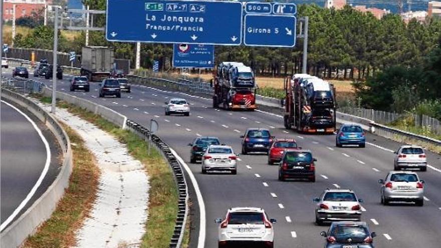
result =
M318 225L323 222L361 219L360 202L363 200L358 199L350 189L326 189L314 202L317 202L315 222Z

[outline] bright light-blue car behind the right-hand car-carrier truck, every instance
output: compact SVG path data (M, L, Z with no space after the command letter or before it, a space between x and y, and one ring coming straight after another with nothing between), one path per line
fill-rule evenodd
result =
M360 125L343 124L335 137L335 146L337 147L342 147L343 145L365 147L365 143L366 137Z

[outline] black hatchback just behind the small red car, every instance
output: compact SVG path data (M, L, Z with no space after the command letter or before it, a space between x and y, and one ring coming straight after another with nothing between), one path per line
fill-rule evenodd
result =
M315 182L315 161L310 151L286 150L279 165L279 180L303 178Z

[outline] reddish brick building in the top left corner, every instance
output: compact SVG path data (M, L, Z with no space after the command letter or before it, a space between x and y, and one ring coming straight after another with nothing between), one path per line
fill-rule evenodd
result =
M14 5L16 6L16 19L31 16L32 12L37 12L45 8L46 0L2 0L3 1L3 20L13 19Z

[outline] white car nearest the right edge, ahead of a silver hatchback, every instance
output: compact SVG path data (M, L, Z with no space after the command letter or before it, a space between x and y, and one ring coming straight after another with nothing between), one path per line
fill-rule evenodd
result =
M424 150L420 146L403 145L398 151L394 152L394 170L401 168L419 168L421 171L427 170L427 160Z

